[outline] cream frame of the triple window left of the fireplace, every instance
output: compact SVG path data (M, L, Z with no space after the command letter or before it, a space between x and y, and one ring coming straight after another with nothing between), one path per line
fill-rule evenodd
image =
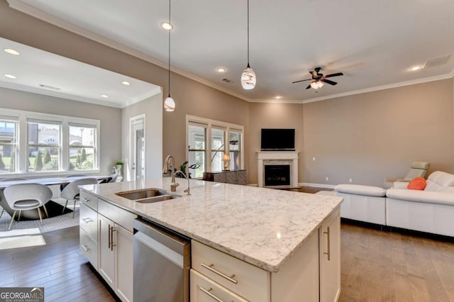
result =
M186 115L186 160L189 160L189 151L196 151L195 149L189 149L189 125L199 125L200 127L206 128L206 137L205 137L205 149L204 150L197 150L197 151L204 151L205 152L205 171L204 172L211 172L211 156L212 156L212 129L218 129L224 131L224 149L223 154L230 155L230 143L228 142L229 133L230 131L238 132L240 134L240 164L239 169L244 169L244 126L237 125L233 123L226 123L223 121L216 121L210 118L201 118L199 116L190 116Z

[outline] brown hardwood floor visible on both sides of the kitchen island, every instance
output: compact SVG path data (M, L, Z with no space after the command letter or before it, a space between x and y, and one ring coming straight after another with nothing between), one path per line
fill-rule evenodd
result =
M79 251L79 228L0 250L0 287L44 286L45 301L116 301ZM454 243L341 225L339 301L454 302Z

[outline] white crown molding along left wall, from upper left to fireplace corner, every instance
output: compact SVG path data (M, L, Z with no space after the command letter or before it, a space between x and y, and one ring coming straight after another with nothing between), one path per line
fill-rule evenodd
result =
M49 13L45 13L44 11L40 11L39 9L35 9L35 7L30 6L28 4L24 4L21 2L21 0L6 0L11 7L11 9L16 9L16 11L21 11L22 13L26 13L29 16L33 16L35 18L38 18L42 21L45 21L47 23L53 24L55 26L58 26L60 28L63 28L65 30L68 30L72 33L75 33L77 35L82 35L82 37L89 38L90 40L94 40L98 43L104 44L106 46L109 46L111 48L114 48L116 50L120 50L121 52L125 52L128 55L132 55L134 57L138 57L141 60L150 62L154 65L157 65L159 67L162 67L164 69L168 69L168 63L167 62L162 62L160 60L155 59L154 57L150 57L149 55L145 55L143 52L139 52L137 50L133 50L131 47L127 47L125 45L122 45L121 43L117 43L114 40L111 40L109 38L105 38L102 35L98 35L96 33L93 33L92 31L86 30L84 28L80 28L79 26L75 26L72 23L69 23L67 21L64 21L60 18L56 18L55 16L50 15ZM201 77L197 77L194 74L190 74L189 72L186 72L182 69L172 67L171 68L172 72L175 72L177 74L182 75L183 77L187 77L189 79L192 79L196 82L199 82L201 84L204 84L206 86L210 86L211 88L217 89L219 91L222 91L226 94L230 94L231 96L236 96L238 99L243 99L244 101L250 101L245 96L242 96L240 94L237 94L234 91L230 91L228 89L225 89L221 86L218 86L217 84L214 84L212 82L207 81L206 79L202 79Z

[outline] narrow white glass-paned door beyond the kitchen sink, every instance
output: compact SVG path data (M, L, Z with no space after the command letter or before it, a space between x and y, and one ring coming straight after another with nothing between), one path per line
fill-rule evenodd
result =
M145 114L131 121L131 180L145 179Z

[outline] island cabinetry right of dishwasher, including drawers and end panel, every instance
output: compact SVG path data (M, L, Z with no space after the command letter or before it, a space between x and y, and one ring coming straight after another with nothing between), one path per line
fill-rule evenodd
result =
M340 217L337 209L279 272L265 271L192 240L191 301L337 301L341 291Z

